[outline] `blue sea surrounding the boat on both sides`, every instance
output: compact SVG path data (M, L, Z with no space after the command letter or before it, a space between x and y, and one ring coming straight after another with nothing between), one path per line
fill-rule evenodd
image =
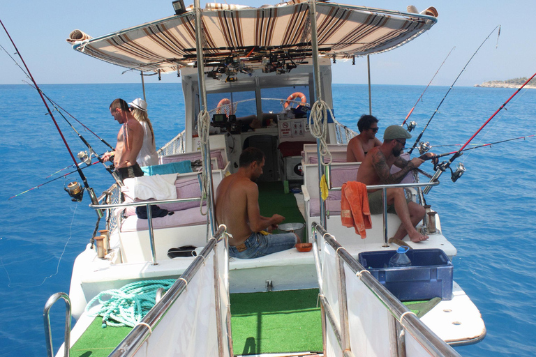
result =
M156 144L162 146L184 128L181 85L147 84L146 89ZM357 130L357 119L368 113L368 87L341 84L333 89L336 119ZM417 104L410 117L418 123L414 138L447 89L430 87ZM138 84L43 85L42 90L112 146L119 126L110 116L110 102L142 96ZM402 123L423 90L424 86L372 86L372 112L380 119L378 137L387 126ZM435 153L455 151L459 146L443 145L466 143L514 91L454 87L422 140L435 146ZM68 293L73 262L91 238L96 213L89 209L88 197L75 203L64 191L66 183L79 179L76 173L50 182L72 171L68 166L73 160L38 93L24 84L0 85L0 98L0 356L45 356L43 307L52 294ZM73 155L86 150L66 120L57 112L54 117ZM66 118L98 153L108 149L75 119ZM536 90L530 89L512 99L507 111L471 144L533 134ZM536 137L467 151L454 165L457 162L463 162L467 172L456 183L449 173L443 174L426 200L440 213L443 233L458 249L454 280L482 312L487 336L456 350L463 356L535 356ZM429 162L422 168L433 171ZM60 169L64 170L54 174ZM97 194L112 184L100 164L84 173ZM9 199L37 185L41 186ZM54 351L63 341L64 314L65 305L59 301L50 317Z

